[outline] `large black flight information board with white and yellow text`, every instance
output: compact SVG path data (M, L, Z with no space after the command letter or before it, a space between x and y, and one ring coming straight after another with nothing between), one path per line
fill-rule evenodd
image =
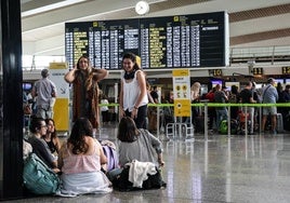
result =
M72 68L88 55L93 66L114 70L132 52L143 69L226 66L227 29L225 12L66 23L66 60Z

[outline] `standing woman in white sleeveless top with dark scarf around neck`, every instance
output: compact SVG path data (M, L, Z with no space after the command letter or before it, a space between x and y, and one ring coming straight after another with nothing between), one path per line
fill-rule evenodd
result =
M146 78L140 68L136 55L132 53L123 55L122 68L119 114L120 118L131 117L136 126L142 128L147 117Z

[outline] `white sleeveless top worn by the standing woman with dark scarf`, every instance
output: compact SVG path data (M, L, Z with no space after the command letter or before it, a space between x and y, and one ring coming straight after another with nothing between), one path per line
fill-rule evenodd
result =
M137 102L139 95L141 94L141 90L140 90L140 85L139 82L136 80L136 75L137 72L140 72L141 70L137 70L134 75L134 78L132 81L130 82L126 82L123 75L124 72L122 72L121 75L121 80L123 83L123 110L129 109L129 111L131 112L134 109L134 106ZM144 106L148 104L148 97L145 94L145 96L142 98L141 104L139 105Z

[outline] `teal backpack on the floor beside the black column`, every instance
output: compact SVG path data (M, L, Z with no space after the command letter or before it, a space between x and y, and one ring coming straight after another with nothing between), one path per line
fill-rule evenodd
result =
M23 179L24 186L35 194L53 194L61 184L58 175L35 153L24 161Z

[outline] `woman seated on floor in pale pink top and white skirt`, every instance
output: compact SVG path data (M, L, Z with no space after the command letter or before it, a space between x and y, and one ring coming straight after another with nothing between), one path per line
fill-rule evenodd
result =
M105 164L107 159L92 134L90 121L85 118L77 119L70 137L58 153L63 180L60 195L111 192L111 184L101 171L101 164Z

